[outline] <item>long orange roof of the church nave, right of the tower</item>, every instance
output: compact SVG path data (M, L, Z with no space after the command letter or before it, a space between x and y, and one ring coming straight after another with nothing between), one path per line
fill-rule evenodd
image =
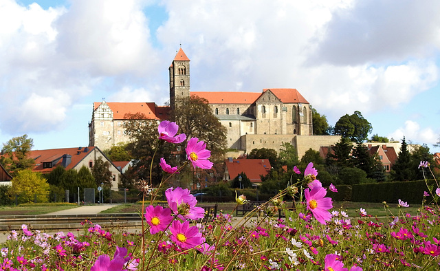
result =
M205 98L210 104L252 105L261 96L261 92L191 91L191 96Z

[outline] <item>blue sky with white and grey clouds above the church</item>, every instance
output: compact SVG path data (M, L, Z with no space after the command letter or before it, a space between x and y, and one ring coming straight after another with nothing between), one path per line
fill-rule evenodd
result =
M295 88L331 126L360 111L373 133L440 137L437 0L0 0L0 143L85 147L93 102L192 91Z

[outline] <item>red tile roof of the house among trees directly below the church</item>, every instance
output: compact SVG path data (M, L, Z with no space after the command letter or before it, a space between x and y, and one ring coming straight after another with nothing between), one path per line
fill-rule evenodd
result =
M233 159L232 162L225 160L230 180L233 180L240 173L246 173L251 182L261 182L261 175L269 173L271 167L267 159Z

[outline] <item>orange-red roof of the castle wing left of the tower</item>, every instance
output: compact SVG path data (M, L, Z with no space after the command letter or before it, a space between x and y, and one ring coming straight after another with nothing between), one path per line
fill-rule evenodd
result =
M94 102L96 110L102 102ZM124 120L126 113L143 113L148 120L166 120L170 107L158 107L155 102L106 102L113 111L113 120Z

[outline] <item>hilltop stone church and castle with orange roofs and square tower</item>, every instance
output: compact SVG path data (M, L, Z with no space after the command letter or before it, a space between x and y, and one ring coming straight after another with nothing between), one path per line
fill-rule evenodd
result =
M170 107L155 102L94 102L89 123L89 145L109 149L127 142L123 123L126 113L144 113L150 120L167 120L179 98L199 96L208 100L212 113L228 131L228 148L249 153L252 149L279 151L290 142L299 157L312 148L338 142L339 136L313 135L311 105L296 89L263 89L260 92L190 91L190 59L180 48L169 67Z

